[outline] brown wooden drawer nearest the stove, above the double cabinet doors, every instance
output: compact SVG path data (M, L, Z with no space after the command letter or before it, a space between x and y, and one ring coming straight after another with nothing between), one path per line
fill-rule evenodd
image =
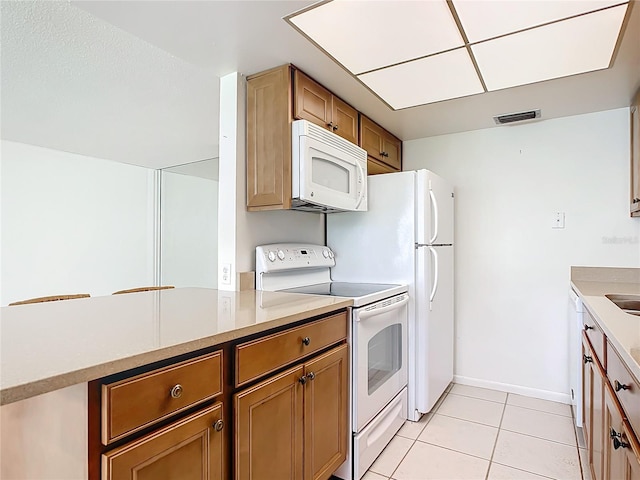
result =
M301 325L236 347L236 386L255 380L347 338L347 313Z

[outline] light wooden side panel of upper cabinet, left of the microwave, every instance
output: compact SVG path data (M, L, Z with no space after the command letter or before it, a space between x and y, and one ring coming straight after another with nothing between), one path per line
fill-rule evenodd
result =
M247 79L247 209L291 208L291 66Z

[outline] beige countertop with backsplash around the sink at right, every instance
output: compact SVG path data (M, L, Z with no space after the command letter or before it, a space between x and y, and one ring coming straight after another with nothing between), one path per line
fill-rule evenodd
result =
M571 284L629 371L640 381L640 317L623 312L605 297L640 295L640 268L573 267Z

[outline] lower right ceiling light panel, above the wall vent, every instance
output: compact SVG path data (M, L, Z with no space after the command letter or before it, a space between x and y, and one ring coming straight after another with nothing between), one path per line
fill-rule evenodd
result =
M607 68L626 8L622 5L472 45L487 89Z

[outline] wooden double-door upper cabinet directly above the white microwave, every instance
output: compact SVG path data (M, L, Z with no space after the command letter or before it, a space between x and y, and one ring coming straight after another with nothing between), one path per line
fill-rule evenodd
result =
M294 118L308 120L358 144L358 111L299 70L294 71Z

